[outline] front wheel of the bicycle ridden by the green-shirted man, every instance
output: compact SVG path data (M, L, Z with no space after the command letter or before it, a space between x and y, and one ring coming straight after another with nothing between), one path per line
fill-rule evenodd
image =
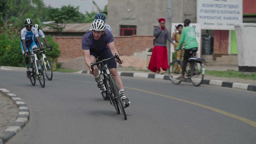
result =
M180 80L181 73L178 71L178 68L182 68L182 62L181 61L173 61L169 65L169 79L171 82L173 82L175 85L180 84L182 81Z

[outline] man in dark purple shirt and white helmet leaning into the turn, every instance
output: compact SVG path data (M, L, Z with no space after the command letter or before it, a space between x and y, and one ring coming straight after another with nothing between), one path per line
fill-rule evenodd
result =
M85 60L86 65L89 68L90 74L95 76L96 80L98 81L98 88L100 92L106 91L104 83L100 77L100 73L98 72L98 67L95 66L95 71L91 69L91 63L96 62L96 57L99 55L102 59L107 59L115 54L118 54L117 49L115 47L115 42L113 39L112 33L106 29L106 24L103 20L97 19L91 23L92 31L88 31L83 35L82 38L82 50L83 50L83 57ZM107 46L109 44L109 47ZM115 83L117 84L118 88L120 89L120 93L122 94L122 102L124 103L125 107L130 105L130 101L126 98L124 94L124 87L122 84L122 79L117 72L117 62L122 64L122 61L118 61L117 59L111 59L108 61L109 71L112 74Z

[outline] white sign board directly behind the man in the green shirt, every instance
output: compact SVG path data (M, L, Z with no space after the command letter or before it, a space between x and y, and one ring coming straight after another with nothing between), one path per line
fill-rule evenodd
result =
M175 31L178 32L178 30L176 30L176 27L179 24L182 24L182 23L172 23L172 26L171 26L171 37L173 36L173 33ZM182 26L183 26L183 24L182 24ZM201 46L201 26L200 26L200 24L197 24L197 23L190 23L189 26L195 28L195 33L196 33L197 43L198 43L197 57L200 57L201 56L201 52L200 52L200 50L201 50L200 49L200 46ZM184 26L183 26L183 28L184 28ZM171 53L173 53L173 52L175 52L174 51L174 46L173 46L173 44L171 44Z

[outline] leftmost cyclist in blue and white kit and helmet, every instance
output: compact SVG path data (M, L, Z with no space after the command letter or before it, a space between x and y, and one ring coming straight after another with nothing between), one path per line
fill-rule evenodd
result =
M20 45L21 45L22 54L25 56L25 63L27 67L27 77L30 78L30 69L29 69L30 62L29 62L27 51L29 50L28 48L30 48L30 50L37 49L37 45L33 41L33 35L35 35L35 38L39 42L39 48L42 48L42 46L41 46L41 41L39 39L38 31L34 27L32 27L33 26L32 19L26 18L24 20L24 24L25 24L25 28L23 28L20 31Z

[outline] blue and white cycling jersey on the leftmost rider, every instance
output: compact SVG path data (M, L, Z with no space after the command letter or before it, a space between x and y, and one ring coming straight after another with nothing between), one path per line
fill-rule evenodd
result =
M20 31L20 41L22 41L22 39L26 40L26 46L32 44L33 42L33 35L35 35L35 37L38 37L38 31L37 29L35 29L34 27L31 28L30 31L28 31L26 28L23 28Z

